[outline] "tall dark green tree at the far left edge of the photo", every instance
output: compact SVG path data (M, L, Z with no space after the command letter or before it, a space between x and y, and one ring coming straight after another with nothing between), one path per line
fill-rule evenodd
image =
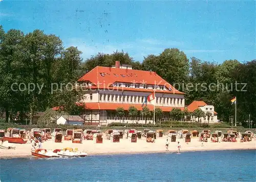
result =
M24 79L23 75L17 74L20 66L18 54L20 53L20 42L24 34L19 30L9 30L6 34L0 27L0 110L6 112L6 122L12 120L15 108L20 107L19 92L13 92L11 86L15 82ZM26 70L25 70L26 72ZM20 97L23 98L23 97ZM10 118L10 120L8 120Z

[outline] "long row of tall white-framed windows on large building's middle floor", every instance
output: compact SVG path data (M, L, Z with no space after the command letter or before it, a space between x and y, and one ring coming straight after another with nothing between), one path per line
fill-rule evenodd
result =
M146 97L144 96L130 96L130 95L112 95L112 94L100 94L99 100L102 102L126 102L126 103L143 103ZM156 97L157 104L164 105L183 105L182 99Z

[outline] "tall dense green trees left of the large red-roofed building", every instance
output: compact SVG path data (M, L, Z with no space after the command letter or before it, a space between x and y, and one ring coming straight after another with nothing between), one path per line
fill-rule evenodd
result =
M40 30L5 33L1 26L0 111L6 113L6 120L17 113L23 120L29 113L31 123L35 111L58 105L72 112L77 95L82 96L76 89L69 92L83 73L80 55L75 47L63 48L55 35Z

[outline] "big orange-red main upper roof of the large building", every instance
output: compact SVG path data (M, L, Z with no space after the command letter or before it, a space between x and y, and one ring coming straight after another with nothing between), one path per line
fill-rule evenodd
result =
M170 90L156 90L156 92L166 92L173 94L184 94L170 85L167 81L162 79L155 72L141 71L141 70L130 70L130 69L118 69L115 67L103 67L96 66L93 70L83 75L78 79L78 82L90 81L94 86L91 88L113 88L113 83L124 82L124 83L138 83L138 84L150 84L150 85L164 85ZM118 87L116 87L118 88ZM120 87L119 87L120 89ZM122 87L122 90L135 90L139 92L148 92L141 88L127 88ZM143 91L142 91L143 90ZM152 92L150 90L149 92Z

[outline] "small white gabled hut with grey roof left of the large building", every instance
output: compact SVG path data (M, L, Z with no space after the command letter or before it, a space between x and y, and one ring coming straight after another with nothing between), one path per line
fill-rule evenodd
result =
M83 125L84 120L80 116L62 115L57 119L57 124L62 125Z

